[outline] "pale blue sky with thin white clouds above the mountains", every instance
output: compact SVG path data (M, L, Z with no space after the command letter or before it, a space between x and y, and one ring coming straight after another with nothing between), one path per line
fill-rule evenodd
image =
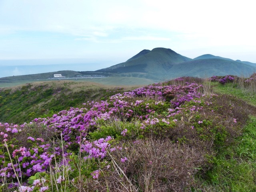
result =
M98 70L156 47L256 63L255 18L252 0L0 0L0 66Z

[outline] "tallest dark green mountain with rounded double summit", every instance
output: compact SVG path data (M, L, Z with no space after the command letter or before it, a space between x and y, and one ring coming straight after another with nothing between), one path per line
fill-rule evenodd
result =
M141 75L145 78L160 80L163 75L166 76L166 71L174 65L191 60L191 58L182 56L171 49L154 48L151 51L142 50L126 62L96 72L108 72L124 76Z

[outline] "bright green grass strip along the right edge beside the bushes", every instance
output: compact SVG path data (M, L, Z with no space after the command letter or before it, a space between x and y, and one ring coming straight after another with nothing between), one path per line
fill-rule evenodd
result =
M205 191L256 191L256 86L254 83L256 82L251 82L252 86L248 89L239 88L237 82L224 85L219 82L211 83L214 92L218 94L231 94L246 100L252 105L251 107L248 106L248 109L254 116L250 116L243 128L242 135L236 138L232 145L226 146L216 158L212 159L212 168L203 176L202 182ZM202 179L202 175L199 177Z

